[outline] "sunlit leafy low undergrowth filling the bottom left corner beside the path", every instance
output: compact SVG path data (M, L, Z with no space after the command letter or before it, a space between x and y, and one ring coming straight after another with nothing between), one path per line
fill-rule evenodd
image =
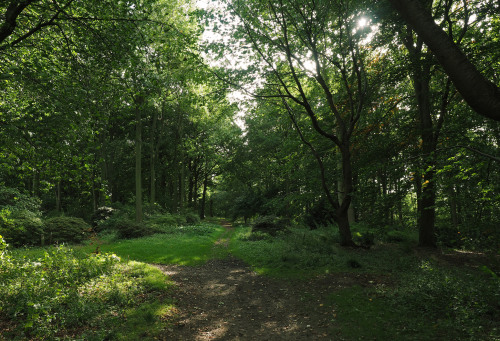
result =
M155 311L165 309L165 276L112 254L88 256L60 246L35 260L18 252L0 262L0 323L10 326L0 338L109 339L129 329L127 317L138 308L155 317L147 328L159 322Z

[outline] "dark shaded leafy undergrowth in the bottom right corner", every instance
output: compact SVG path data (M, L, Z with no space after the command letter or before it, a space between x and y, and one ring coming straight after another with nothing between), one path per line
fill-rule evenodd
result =
M500 282L480 272L421 261L402 273L397 289L385 295L393 307L415 318L408 330L416 328L414 323L432 323L436 334L446 338L486 340L491 333L493 340L500 336L494 322L500 318Z

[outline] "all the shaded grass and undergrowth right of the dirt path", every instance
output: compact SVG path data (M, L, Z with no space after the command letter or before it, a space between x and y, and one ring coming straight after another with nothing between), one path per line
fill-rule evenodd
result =
M337 246L333 229L291 229L271 238L240 227L231 250L257 272L278 278L329 273L386 278L391 284L353 286L327 297L335 311L331 335L342 339L500 340L500 280L494 272L417 255L412 232L389 237L398 243L346 249Z

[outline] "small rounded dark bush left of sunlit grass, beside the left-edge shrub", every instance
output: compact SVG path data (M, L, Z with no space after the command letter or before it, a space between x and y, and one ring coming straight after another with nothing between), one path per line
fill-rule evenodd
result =
M53 243L80 243L92 231L81 218L55 217L45 221L45 240Z

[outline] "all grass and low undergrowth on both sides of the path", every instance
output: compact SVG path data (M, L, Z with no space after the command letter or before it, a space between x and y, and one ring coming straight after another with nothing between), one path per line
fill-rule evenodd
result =
M230 253L283 280L328 274L383 278L385 284L326 294L325 305L334 311L330 335L340 339L500 340L496 268L415 253L414 231L388 231L365 250L339 247L333 228L295 228L277 237L215 223L158 228L163 233L149 237L117 240L103 234L73 249L4 254L0 340L154 340L175 319L176 308L169 298L172 284L145 263L195 266ZM354 233L362 235L357 228ZM100 253L92 254L96 248Z

